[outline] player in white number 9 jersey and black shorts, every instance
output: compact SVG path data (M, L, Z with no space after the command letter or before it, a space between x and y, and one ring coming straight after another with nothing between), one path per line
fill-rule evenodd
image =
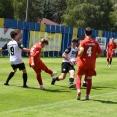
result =
M12 38L11 41L9 41L7 44L5 44L0 50L8 49L9 55L10 55L10 64L13 69L13 71L10 72L6 82L4 85L9 85L10 79L14 76L14 74L17 71L17 68L19 70L22 70L23 74L23 87L27 88L27 72L25 68L25 64L22 61L21 52L24 50L25 52L30 52L30 49L25 48L21 43L18 42L19 35L17 31L11 31L10 36Z

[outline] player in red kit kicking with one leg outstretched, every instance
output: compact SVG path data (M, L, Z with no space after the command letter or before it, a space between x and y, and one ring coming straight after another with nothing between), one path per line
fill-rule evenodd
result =
M41 71L45 71L50 74L52 77L57 74L57 72L53 72L50 70L40 59L40 53L42 48L48 45L48 40L46 38L42 38L39 43L35 44L30 51L29 65L34 69L37 75L37 81L40 85L40 89L44 90L45 87L41 78Z

